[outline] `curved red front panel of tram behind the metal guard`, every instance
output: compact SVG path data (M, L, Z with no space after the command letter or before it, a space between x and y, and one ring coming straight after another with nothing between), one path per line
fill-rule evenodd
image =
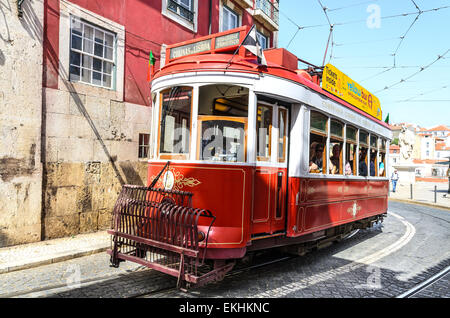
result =
M149 183L164 164L149 163ZM209 232L207 258L242 257L250 240L253 168L171 162L169 174L173 190L192 192L192 206L210 210L216 217ZM161 176L157 188L164 187L163 180ZM206 234L208 226L200 224L199 230Z

